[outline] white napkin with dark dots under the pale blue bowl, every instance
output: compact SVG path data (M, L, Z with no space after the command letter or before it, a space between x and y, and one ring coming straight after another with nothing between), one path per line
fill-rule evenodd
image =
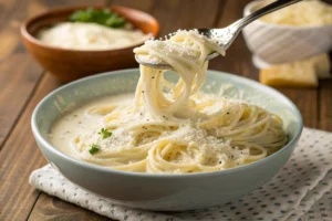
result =
M33 171L30 185L121 221L331 221L332 133L304 128L293 156L269 182L240 200L199 211L151 212L117 206L72 185L50 165Z

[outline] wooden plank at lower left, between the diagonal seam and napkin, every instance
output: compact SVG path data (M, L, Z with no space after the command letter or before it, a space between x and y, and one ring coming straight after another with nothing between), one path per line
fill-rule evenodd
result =
M58 86L53 76L44 75L0 151L0 220L25 220L39 196L28 180L46 160L35 145L30 119L35 105Z

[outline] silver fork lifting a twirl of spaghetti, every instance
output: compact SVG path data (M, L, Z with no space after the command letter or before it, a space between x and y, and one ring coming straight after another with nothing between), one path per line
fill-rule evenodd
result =
M206 35L209 39L214 39L218 42L220 46L222 46L225 50L227 50L231 43L235 41L237 35L240 33L240 31L252 21L259 19L260 17L263 17L268 13L271 13L278 9L281 9L283 7L297 3L301 0L277 0L257 11L253 13L243 17L242 19L234 22L229 27L226 27L224 29L198 29L198 32L203 35ZM215 59L218 56L218 53L211 53L206 57L206 61ZM139 64L143 64L145 66L151 66L154 69L162 69L162 70L169 70L173 69L169 64L166 63L147 63L146 61L143 61L139 59L139 55L135 55L136 61Z

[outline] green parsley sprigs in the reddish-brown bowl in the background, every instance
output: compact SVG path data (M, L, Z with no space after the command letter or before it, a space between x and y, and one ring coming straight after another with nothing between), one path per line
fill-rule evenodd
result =
M128 23L124 18L110 9L96 10L89 8L85 10L77 10L74 11L69 19L73 22L97 23L115 29L123 28Z

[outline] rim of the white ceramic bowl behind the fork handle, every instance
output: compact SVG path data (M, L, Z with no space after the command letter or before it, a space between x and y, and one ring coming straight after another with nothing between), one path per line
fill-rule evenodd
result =
M263 0L255 0L248 3L243 9L243 15L248 15L251 13L251 9L260 3L263 3ZM293 27L289 24L276 24L276 23L269 23L261 19L255 20L255 22L270 27L274 29L286 29L286 30L292 30L292 31L303 31L303 30L317 30L317 29L323 29L323 28L332 28L332 24L321 24L321 25L303 25L303 27Z

